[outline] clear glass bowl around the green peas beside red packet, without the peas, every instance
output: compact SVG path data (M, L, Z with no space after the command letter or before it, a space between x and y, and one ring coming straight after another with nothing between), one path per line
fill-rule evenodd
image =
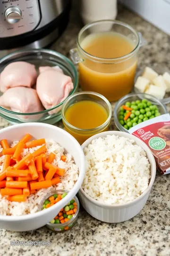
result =
M119 116L119 111L120 108L125 105L125 103L127 101L131 102L131 101L136 101L136 100L143 100L143 99L147 99L148 101L151 101L152 104L157 105L161 115L168 113L166 106L161 103L160 100L158 100L157 98L153 97L152 95L146 94L146 93L129 93L126 96L122 97L116 104L115 108L114 108L114 122L116 127L119 129L119 131L124 131L124 132L128 132L128 130L126 128L124 128L118 120L118 116Z

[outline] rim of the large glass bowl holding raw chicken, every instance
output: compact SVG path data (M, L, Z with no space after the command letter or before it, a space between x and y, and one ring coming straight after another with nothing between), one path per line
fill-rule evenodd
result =
M77 85L78 85L78 74L77 74L76 67L66 56L58 53L57 51L54 51L54 50L51 50L51 49L46 49L46 48L44 48L44 49L32 49L32 50L30 50L30 49L29 50L27 50L27 49L20 49L20 50L14 51L14 52L12 52L12 53L10 53L8 55L5 55L3 58L0 59L0 64L1 64L1 62L5 61L5 60L8 60L10 57L13 57L15 54L17 54L17 53L19 54L19 53L22 53L22 52L27 53L27 54L39 53L39 52L40 53L47 53L47 54L51 54L52 53L52 54L58 56L59 58L64 59L64 61L67 62L72 67L73 73L75 75L75 84L73 83L73 85L74 85L73 90L70 92L71 94L68 95L68 97L71 96L76 91L76 88L77 88ZM55 109L59 108L63 104L64 101L60 102L58 105L52 107L51 109L42 110L42 111L39 111L39 112L30 112L30 113L23 113L22 112L22 113L19 113L19 112L15 112L15 111L12 111L12 110L7 110L7 109L5 109L5 108L3 108L1 106L0 106L0 110L3 110L5 112L7 112L7 113L14 114L14 115L20 115L20 116L26 116L27 115L27 116L31 116L31 115L37 115L37 114L44 114L44 113L50 112L51 110L55 110Z

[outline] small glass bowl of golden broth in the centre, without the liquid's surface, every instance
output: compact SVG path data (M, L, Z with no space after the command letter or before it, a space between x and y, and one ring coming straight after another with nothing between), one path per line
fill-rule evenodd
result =
M73 105L74 103L78 101L94 101L102 105L105 110L108 113L108 118L107 120L100 126L92 129L81 129L77 128L70 123L65 118L65 113L66 110ZM102 131L107 131L109 128L110 124L110 119L112 115L112 109L110 102L101 94L93 91L80 91L77 92L71 96L69 96L66 101L64 101L61 109L61 115L62 115L62 121L65 126L65 130L70 133L73 137L76 138L76 140L80 143L83 144L85 140L97 133L100 133Z

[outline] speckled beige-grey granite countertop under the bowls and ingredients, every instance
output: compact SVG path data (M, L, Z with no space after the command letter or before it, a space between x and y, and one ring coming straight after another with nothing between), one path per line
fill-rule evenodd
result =
M147 45L139 51L138 68L151 65L170 69L170 37L136 14L119 8L117 19L142 32ZM68 56L76 46L76 36L82 27L76 7L63 36L52 49ZM114 104L112 104L114 108ZM0 118L0 128L9 124ZM62 127L61 122L57 124ZM116 129L112 119L110 129ZM50 241L51 246L10 246L12 241ZM62 234L45 227L30 232L10 232L0 229L0 256L112 256L170 255L170 176L157 174L149 199L141 212L123 223L108 224L93 219L81 209L76 226Z

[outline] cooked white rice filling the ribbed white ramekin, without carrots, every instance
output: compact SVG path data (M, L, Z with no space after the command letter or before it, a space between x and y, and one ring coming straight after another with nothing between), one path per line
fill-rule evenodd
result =
M133 139L115 135L100 137L84 149L84 191L105 204L133 201L148 187L150 164Z

